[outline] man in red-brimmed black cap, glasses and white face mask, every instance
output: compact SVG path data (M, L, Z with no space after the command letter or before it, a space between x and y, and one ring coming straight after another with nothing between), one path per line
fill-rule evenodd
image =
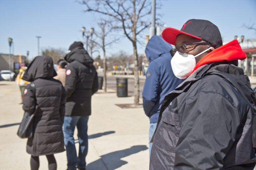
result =
M217 26L188 20L166 28L175 76L185 79L160 109L151 139L150 170L253 170L254 92L238 67L246 54L237 40L222 44Z

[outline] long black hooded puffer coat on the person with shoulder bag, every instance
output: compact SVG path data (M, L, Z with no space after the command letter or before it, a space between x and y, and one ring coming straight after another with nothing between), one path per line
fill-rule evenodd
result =
M37 56L22 79L34 81L36 93L29 84L25 90L23 110L33 113L34 135L27 141L27 152L33 156L65 151L62 124L65 114L66 91L56 76L52 58Z

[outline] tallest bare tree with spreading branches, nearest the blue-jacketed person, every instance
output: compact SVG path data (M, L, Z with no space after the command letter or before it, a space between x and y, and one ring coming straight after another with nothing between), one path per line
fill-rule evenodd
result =
M150 0L82 0L85 12L109 16L116 22L117 29L132 42L134 57L134 105L139 105L139 74L137 36L150 26Z

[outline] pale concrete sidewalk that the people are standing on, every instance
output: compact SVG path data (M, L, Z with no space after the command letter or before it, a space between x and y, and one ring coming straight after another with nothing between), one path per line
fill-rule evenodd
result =
M3 170L30 169L26 139L17 135L23 116L20 91L15 82L0 81L0 164ZM122 109L115 104L133 104L133 97L120 98L114 90L99 90L92 97L88 122L87 170L147 170L149 167L149 119L138 108ZM77 139L77 131L75 131ZM78 146L78 143L76 144ZM77 147L78 149L78 147ZM58 170L67 168L66 152L55 154ZM40 170L48 169L40 156Z

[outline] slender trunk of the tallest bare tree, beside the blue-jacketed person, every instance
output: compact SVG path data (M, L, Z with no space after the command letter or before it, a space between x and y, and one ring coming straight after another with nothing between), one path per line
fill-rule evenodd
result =
M140 86L139 86L139 67L138 67L138 53L137 53L137 44L136 40L133 44L133 58L134 58L134 105L139 105L139 97L140 97Z

